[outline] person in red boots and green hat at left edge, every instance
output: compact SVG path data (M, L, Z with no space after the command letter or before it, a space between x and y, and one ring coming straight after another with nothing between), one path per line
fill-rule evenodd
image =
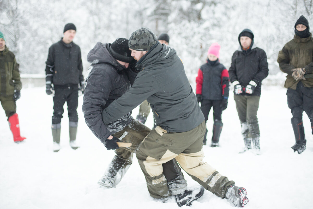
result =
M19 64L16 62L15 55L9 51L4 35L0 32L0 102L8 117L14 142L26 139L20 134L18 114L16 113L16 100L21 97L22 89L18 68Z

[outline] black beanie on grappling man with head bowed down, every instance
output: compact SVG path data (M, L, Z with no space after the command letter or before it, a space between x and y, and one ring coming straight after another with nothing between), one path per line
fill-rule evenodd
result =
M114 57L122 62L130 63L134 60L131 56L131 50L128 47L128 39L118 38L110 45L110 53Z

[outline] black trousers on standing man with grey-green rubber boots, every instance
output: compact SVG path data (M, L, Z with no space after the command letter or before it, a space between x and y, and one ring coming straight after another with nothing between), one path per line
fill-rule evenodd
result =
M64 103L67 103L69 121L77 122L78 84L54 85L52 124L61 123Z

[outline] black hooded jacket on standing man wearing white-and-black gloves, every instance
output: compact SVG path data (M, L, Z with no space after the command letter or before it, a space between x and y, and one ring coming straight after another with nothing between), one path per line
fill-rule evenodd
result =
M269 74L264 50L256 47L255 43L252 43L251 48L247 52L240 46L233 54L232 64L228 73L231 83L238 80L242 86L246 87L253 80L257 84L253 94L243 92L240 95L260 96L262 80Z

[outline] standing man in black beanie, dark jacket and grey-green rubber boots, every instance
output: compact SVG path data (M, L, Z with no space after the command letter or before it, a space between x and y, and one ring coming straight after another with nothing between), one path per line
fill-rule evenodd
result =
M85 84L80 47L73 42L76 27L67 23L63 30L64 37L49 48L46 61L46 93L53 96L52 137L53 150L60 150L61 118L63 106L67 103L69 115L69 144L75 150L78 124L78 90L84 93Z

